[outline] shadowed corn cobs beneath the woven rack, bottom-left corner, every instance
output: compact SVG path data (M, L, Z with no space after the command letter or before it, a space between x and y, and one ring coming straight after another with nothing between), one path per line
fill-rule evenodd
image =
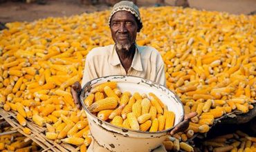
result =
M0 133L9 132L10 126L4 127ZM32 140L25 141L26 136L21 133L10 133L7 135L0 135L0 151L39 151L39 146Z

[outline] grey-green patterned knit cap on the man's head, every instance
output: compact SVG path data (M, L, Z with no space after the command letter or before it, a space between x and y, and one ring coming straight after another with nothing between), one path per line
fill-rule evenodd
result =
M111 15L109 17L109 26L110 26L110 21L111 18L113 17L113 15L118 12L118 11L122 11L125 10L127 12L131 12L132 15L134 15L134 17L136 17L136 19L138 19L139 21L139 29L143 28L143 21L141 21L140 18L140 11L138 10L138 6L136 6L132 1L120 1L119 3L116 3L113 6L113 10L111 11Z

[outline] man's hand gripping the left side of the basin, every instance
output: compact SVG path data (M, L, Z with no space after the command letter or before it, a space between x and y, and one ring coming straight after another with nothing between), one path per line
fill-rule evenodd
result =
M75 105L77 106L78 109L82 108L82 105L80 104L80 101L79 101L81 90L82 90L82 87L79 82L75 82L74 84L72 84L71 95L72 95Z

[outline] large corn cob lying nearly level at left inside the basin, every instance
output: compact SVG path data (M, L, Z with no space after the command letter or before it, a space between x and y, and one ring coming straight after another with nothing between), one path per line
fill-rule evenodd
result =
M116 108L116 106L118 106L118 100L116 97L106 97L91 104L88 110L95 113L102 110L113 109Z

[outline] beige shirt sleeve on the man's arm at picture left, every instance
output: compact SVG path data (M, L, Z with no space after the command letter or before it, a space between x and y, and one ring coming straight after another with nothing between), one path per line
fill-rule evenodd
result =
M93 58L86 57L84 66L84 75L82 77L82 87L92 79L98 78Z

